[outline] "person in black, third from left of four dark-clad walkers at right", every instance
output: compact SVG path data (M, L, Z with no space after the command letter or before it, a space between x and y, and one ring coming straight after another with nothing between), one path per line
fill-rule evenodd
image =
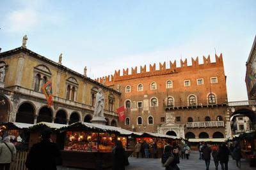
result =
M220 166L222 170L228 170L228 155L229 150L225 143L221 143L220 151L218 154L220 160Z

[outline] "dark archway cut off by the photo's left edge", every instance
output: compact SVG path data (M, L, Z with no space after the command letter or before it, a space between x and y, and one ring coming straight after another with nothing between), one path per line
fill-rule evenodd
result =
M8 122L10 102L4 96L0 96L0 122Z

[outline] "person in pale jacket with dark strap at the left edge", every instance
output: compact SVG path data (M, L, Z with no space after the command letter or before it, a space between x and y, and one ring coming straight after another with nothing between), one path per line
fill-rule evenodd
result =
M9 170L10 164L15 160L16 148L10 142L10 136L6 136L0 143L0 170Z

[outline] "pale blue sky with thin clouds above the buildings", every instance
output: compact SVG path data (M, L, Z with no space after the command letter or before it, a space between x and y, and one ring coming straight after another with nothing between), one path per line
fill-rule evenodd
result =
M223 53L228 101L247 100L255 0L2 0L1 52L22 45L95 79L115 70ZM179 63L179 62L178 62ZM179 66L179 64L178 64ZM158 67L158 66L157 66ZM147 69L148 69L147 68Z

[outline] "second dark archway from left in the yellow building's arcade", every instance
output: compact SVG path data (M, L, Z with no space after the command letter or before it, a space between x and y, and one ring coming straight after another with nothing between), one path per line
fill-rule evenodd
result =
M20 104L16 113L15 122L34 124L35 120L35 108L31 103Z

